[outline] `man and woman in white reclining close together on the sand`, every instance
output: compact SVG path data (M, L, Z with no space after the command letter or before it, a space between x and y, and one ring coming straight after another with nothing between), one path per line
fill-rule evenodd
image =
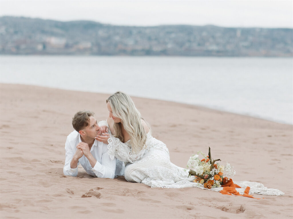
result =
M171 163L166 145L151 136L149 125L130 96L116 92L106 103L107 121L97 124L89 111L74 115L75 131L68 135L65 144L65 175L77 176L80 163L89 175L104 178L124 175L129 182L150 187L192 183L194 177L188 178L184 168Z

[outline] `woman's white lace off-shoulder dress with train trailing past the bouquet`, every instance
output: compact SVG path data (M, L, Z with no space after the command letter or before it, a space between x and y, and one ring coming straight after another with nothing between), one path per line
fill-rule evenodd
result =
M100 121L99 125L108 125L106 121ZM185 188L198 187L205 189L202 184L192 182L194 176L188 177L188 170L171 163L170 155L166 144L155 139L149 132L145 148L137 154L132 153L130 140L123 143L120 139L113 137L110 132L108 139L108 154L111 159L114 157L126 163L124 177L128 182L144 183L150 187L162 188ZM251 187L249 194L282 195L277 189L268 189L258 182L235 182L241 186L236 190L243 194L247 186ZM223 188L212 188L220 191Z

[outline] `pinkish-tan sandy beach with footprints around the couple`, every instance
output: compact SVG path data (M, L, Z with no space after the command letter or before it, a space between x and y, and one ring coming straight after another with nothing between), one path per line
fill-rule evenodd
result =
M173 102L135 98L171 161L197 151L234 166L234 181L254 181L283 196L251 199L198 188L163 189L95 178L79 167L63 175L71 118L108 116L108 94L1 84L1 218L292 218L292 125Z

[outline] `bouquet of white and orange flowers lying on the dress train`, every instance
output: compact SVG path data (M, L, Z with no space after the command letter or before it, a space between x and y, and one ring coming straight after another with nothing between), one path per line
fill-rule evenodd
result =
M198 154L202 154L204 158L200 160ZM189 176L195 176L193 182L203 184L207 189L225 186L228 182L231 182L232 179L230 180L230 177L233 177L236 173L233 170L233 166L229 163L226 163L226 165L223 166L216 163L216 161L221 160L212 159L210 147L208 156L205 156L201 151L198 151L196 155L191 156L187 163L187 168L190 169Z

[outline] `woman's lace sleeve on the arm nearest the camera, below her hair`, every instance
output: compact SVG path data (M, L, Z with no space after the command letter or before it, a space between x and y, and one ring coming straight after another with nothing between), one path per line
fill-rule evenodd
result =
M131 146L122 143L119 138L111 136L108 139L108 154L111 159L117 157L120 161L134 163L142 158L145 149L142 149L138 153L132 153Z

